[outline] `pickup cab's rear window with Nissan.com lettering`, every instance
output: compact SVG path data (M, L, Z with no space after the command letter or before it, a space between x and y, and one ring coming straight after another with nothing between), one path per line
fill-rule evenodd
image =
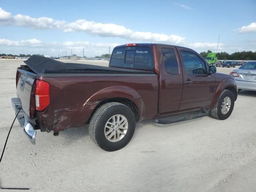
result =
M116 48L110 66L136 69L153 69L152 51L149 47Z

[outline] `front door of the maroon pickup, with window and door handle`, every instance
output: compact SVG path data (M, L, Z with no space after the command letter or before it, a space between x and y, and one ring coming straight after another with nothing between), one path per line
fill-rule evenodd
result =
M215 92L215 74L193 50L178 48L182 60L183 94L179 110L208 108Z

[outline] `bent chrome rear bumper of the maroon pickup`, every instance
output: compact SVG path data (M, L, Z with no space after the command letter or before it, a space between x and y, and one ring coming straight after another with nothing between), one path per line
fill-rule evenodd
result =
M29 116L24 112L21 105L20 98L12 98L12 108L15 111L15 115L17 115L17 120L20 123L20 126L23 127L24 133L30 140L32 144L36 144L36 130L35 130L35 122L29 118Z

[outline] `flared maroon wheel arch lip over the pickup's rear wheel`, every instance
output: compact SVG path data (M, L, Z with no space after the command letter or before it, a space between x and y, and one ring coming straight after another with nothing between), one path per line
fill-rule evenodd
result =
M90 104L99 103L105 99L111 98L125 98L131 100L136 104L138 111L139 111L139 120L142 120L145 115L145 106L144 102L134 89L127 87L127 86L110 86L99 90L98 92L94 93L88 100L86 100L85 105L90 106ZM96 107L96 106L95 106Z

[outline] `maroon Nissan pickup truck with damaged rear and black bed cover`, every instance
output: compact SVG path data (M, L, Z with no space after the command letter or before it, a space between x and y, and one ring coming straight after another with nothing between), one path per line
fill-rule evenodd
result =
M144 119L168 124L210 114L224 120L238 92L233 76L216 73L202 56L180 46L117 46L109 67L40 56L24 63L17 69L12 106L32 144L36 130L58 136L88 123L95 144L119 150Z

